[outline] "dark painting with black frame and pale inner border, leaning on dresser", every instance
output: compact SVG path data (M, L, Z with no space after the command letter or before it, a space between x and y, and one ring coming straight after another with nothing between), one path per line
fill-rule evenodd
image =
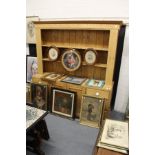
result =
M75 93L61 89L51 89L52 91L52 112L73 118Z

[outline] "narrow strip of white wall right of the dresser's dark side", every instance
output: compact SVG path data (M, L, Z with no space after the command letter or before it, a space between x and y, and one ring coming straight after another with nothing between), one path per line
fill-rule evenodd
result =
M124 48L114 109L124 113L129 102L129 27L126 26Z

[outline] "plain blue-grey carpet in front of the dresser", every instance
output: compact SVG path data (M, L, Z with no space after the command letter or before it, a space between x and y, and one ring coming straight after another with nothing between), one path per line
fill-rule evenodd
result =
M52 114L45 120L50 139L43 140L41 148L46 155L92 155L99 129ZM33 155L28 151L26 154Z

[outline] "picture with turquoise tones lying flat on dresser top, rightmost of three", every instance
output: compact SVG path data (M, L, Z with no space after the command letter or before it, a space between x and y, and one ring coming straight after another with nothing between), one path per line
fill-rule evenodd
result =
M89 79L86 83L86 86L94 88L103 88L104 84L105 84L104 80Z

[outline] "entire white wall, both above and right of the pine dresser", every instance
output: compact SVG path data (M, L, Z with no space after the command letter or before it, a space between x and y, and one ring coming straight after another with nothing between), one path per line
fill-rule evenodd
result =
M129 0L26 0L26 15L40 20L122 20L128 25ZM125 112L129 98L128 84L128 27L122 55L115 107Z

